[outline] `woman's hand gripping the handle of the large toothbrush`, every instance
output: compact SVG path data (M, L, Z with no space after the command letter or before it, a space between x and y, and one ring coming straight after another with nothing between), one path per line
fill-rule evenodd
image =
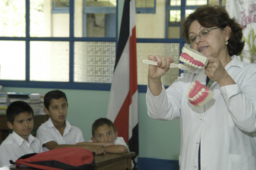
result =
M164 57L164 56L149 56L149 60L158 63L158 66L149 65L149 79L155 79L156 81L161 79L165 73L169 70L169 65L173 62L172 57Z

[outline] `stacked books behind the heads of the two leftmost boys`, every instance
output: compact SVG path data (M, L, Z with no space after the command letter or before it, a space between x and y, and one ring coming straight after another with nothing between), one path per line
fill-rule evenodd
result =
M24 94L24 93L17 93L17 92L7 92L7 96L9 99L9 103L14 101L24 101L27 102L30 107L34 111L34 115L38 114L45 114L44 104L43 104L43 95L37 93L31 94Z

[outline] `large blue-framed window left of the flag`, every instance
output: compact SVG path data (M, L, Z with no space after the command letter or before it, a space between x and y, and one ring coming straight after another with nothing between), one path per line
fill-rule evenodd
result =
M0 7L1 85L110 88L116 0L0 0Z

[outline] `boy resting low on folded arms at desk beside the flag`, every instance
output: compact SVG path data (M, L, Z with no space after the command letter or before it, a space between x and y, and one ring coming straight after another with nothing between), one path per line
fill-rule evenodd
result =
M101 145L107 153L127 153L129 149L123 137L117 137L118 132L111 120L98 118L92 124L92 141L78 144Z

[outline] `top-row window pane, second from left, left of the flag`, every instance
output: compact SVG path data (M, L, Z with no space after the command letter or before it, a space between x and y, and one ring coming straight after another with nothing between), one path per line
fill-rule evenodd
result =
M69 37L69 1L30 0L31 37Z

